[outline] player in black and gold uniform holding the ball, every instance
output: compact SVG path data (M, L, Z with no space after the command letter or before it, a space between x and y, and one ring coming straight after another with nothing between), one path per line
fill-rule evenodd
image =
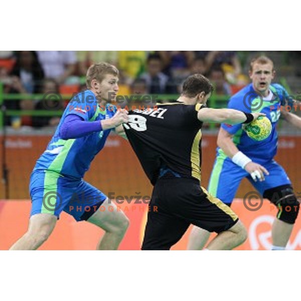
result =
M249 123L263 114L207 108L212 91L206 77L191 75L175 103L134 109L119 128L154 185L142 250L169 250L190 224L218 234L208 250L230 250L246 240L237 215L201 187L201 128L203 122Z

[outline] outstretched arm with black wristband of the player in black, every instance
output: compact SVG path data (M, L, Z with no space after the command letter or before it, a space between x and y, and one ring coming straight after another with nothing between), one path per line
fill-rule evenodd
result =
M265 116L262 113L244 113L234 109L211 109L203 108L198 112L198 119L204 122L217 123L249 123L259 116Z

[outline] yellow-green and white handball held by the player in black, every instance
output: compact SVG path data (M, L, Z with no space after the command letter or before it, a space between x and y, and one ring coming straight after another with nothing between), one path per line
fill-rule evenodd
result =
M259 116L256 120L247 124L244 131L251 139L262 141L271 134L272 124L267 117Z

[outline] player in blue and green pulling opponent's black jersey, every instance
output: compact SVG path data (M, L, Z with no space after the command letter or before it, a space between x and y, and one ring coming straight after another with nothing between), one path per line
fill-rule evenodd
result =
M12 250L39 248L52 233L62 211L76 221L88 221L105 231L98 250L117 249L126 232L128 219L124 213L83 180L110 131L128 120L127 111L117 111L110 104L118 92L118 70L107 63L92 65L86 83L88 90L69 102L32 172L29 228Z

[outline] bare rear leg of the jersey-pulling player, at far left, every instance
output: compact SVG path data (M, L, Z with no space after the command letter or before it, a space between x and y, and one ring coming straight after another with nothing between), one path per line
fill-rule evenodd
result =
M29 220L28 231L10 248L10 250L36 250L50 236L57 222L52 214L40 213Z

